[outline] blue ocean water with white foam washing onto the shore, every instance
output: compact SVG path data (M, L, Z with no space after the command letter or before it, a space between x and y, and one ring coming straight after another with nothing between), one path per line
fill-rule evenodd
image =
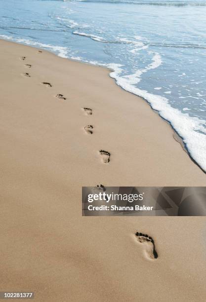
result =
M206 0L0 0L0 38L109 67L206 171Z

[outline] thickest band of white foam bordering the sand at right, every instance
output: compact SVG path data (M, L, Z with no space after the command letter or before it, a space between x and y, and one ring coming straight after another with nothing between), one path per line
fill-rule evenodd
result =
M147 100L154 110L171 123L182 137L192 158L206 171L206 121L172 108L165 97L154 95L131 85L128 79L120 76L121 65L110 64L108 67L114 70L110 76L116 79L119 86Z

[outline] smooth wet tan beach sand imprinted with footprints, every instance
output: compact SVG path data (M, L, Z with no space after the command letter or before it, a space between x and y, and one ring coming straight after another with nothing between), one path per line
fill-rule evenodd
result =
M82 217L82 186L206 185L169 124L107 69L3 40L0 67L0 291L205 301L204 217Z

